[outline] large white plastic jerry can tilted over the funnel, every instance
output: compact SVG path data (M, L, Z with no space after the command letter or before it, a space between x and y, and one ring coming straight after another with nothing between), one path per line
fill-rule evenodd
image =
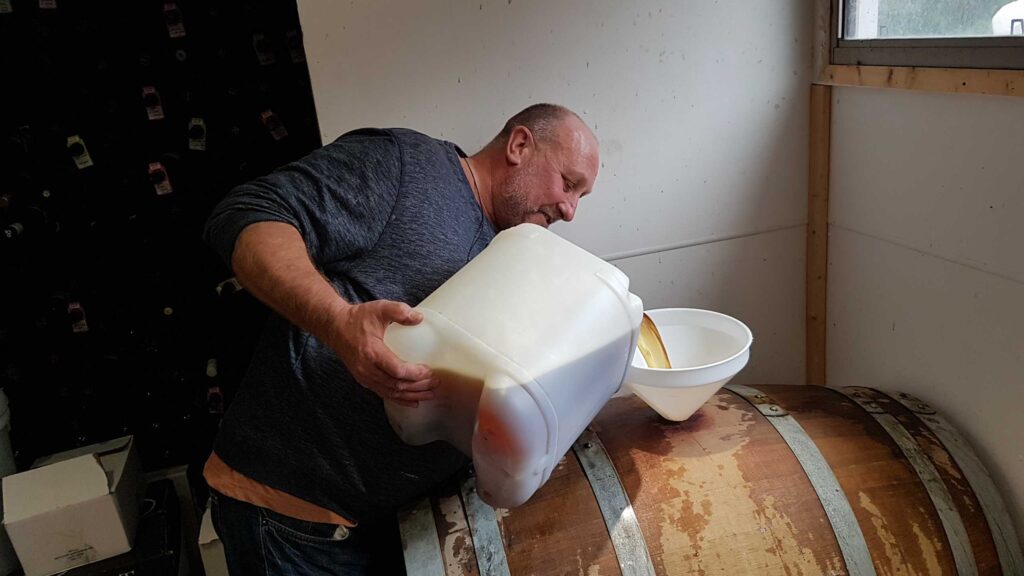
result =
M525 502L623 383L643 302L608 262L536 224L498 234L384 342L440 384L415 408L385 402L413 445L473 458L480 496Z

